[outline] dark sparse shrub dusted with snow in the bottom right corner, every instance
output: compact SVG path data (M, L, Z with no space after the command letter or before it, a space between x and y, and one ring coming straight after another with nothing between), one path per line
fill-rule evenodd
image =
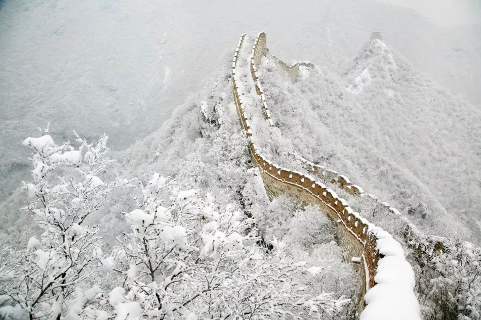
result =
M427 242L417 266L417 287L427 320L481 318L481 250L467 241Z

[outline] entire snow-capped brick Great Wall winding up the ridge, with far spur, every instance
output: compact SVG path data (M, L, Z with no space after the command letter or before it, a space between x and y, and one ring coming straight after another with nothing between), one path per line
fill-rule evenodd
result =
M337 226L337 240L345 248L346 260L359 262L356 267L359 278L359 291L356 301L349 310L349 316L357 319L388 319L386 307L392 308L399 314L395 318L419 319L419 304L414 294L414 272L405 259L402 246L393 237L383 231L382 228L370 223L367 219L354 212L347 201L339 198L337 194L328 188L323 182L299 171L282 168L274 164L273 159L267 159L258 153L258 148L252 142L252 130L248 117L245 114L245 103L242 90L236 75L237 61L241 55L246 35L243 34L238 42L232 60L232 90L240 124L246 134L248 150L255 166L258 167L265 190L270 199L280 194L289 194L298 199L302 204L316 204L324 214ZM259 33L254 41L251 51L250 73L252 75L255 92L259 96L262 114L270 126L273 126L267 101L259 81L258 66L264 56L268 55L266 34ZM270 56L284 69L291 78L295 79L300 65L313 67L311 63L295 63L292 66L274 56ZM315 165L304 159L300 159L305 167L317 177L328 179L331 183L346 190L353 196L369 196L378 201L379 206L398 217L399 212L387 203L379 201L371 195L365 195L362 188L351 184L349 179L339 175L336 171ZM409 221L408 221L409 222ZM406 222L407 238L415 237L415 227ZM410 304L403 305L404 301ZM399 307L399 304L400 307Z

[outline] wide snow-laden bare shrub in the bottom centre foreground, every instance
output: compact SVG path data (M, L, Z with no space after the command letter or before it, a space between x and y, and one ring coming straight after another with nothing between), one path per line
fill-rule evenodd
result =
M124 286L110 293L117 315L128 306L145 318L301 318L336 313L347 302L324 292L309 296L292 279L311 281L321 269L293 263L275 238L266 255L252 219L194 191L172 189L163 206L162 188L170 187L142 187L139 209L126 214L132 233L113 253L115 270L125 275Z

